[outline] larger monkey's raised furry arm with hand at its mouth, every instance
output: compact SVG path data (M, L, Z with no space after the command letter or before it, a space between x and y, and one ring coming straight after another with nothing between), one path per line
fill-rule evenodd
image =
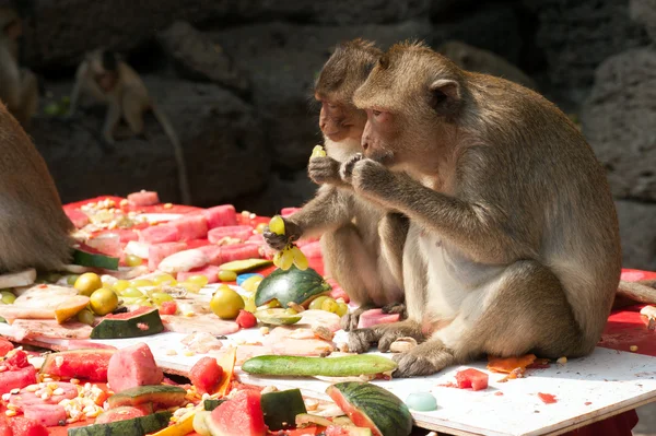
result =
M355 162L350 172L348 163L344 167L345 180L351 180L356 192L437 232L476 261L499 263L537 256L504 231L500 211L434 191L368 158Z

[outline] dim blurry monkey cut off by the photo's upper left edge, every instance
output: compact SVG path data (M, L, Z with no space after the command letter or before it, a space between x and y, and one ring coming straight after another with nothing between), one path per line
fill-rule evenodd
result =
M0 101L23 128L28 128L38 109L38 81L32 71L19 66L22 34L22 21L16 11L0 8Z

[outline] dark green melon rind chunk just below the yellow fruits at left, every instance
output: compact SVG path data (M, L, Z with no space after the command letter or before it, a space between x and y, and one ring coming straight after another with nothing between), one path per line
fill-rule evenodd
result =
M91 330L91 339L140 338L164 331L156 307L141 307L125 314L106 316Z

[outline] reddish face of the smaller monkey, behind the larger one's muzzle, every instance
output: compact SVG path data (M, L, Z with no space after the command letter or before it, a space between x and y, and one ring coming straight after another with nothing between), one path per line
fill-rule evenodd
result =
M328 99L319 101L321 102L319 128L330 141L341 142L345 139L360 140L364 130L364 123L366 122L363 110Z

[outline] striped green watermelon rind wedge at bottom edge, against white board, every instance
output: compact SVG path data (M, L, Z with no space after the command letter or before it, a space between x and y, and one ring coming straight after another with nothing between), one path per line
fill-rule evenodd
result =
M412 432L410 410L387 389L363 381L344 381L329 386L326 393L342 408L353 423L359 426L367 423L366 426L374 434L408 436ZM342 403L347 403L349 408L342 406Z

